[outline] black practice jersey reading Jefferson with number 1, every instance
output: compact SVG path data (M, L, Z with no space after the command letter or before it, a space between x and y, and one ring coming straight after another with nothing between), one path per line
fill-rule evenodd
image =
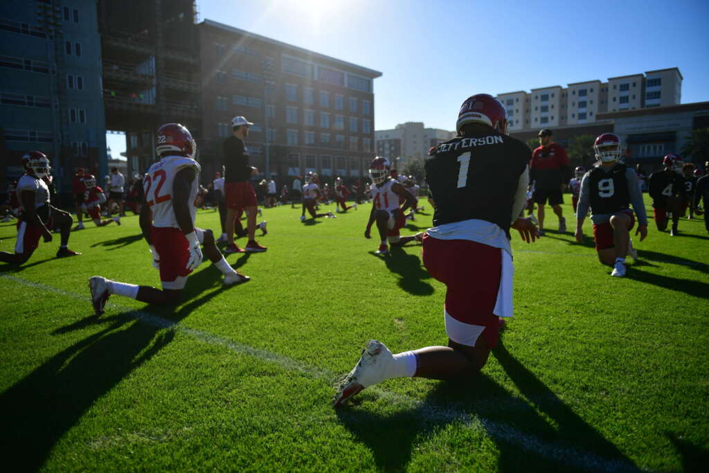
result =
M433 225L477 218L509 233L520 175L531 157L525 143L496 132L438 145L425 162Z

